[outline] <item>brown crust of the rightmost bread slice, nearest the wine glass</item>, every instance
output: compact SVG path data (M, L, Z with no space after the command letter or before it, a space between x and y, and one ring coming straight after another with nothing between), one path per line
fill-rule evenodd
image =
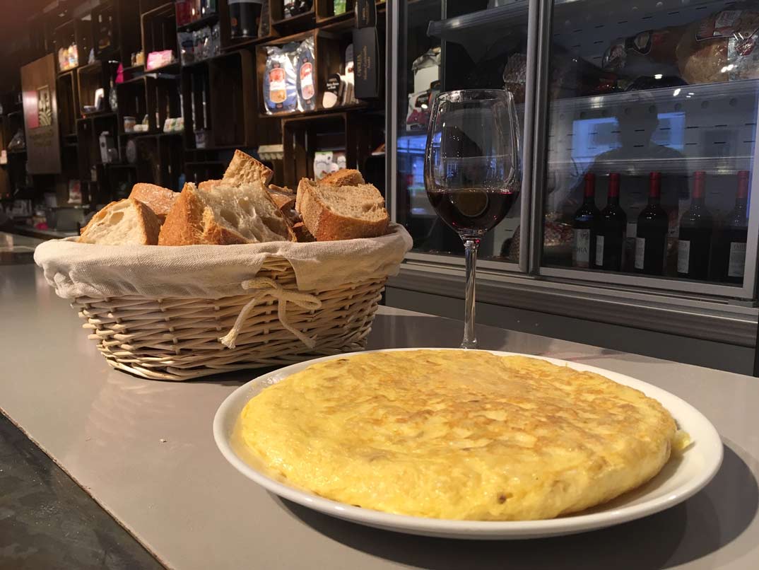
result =
M301 179L296 198L296 208L307 230L317 242L378 237L387 232L389 217L369 221L337 214L317 196L317 188L317 182Z

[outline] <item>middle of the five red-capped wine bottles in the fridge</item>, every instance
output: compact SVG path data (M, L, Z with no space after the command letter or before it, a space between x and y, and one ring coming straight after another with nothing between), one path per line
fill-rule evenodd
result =
M638 216L635 234L635 271L647 275L664 273L666 234L669 220L661 207L661 173L651 173L648 205Z

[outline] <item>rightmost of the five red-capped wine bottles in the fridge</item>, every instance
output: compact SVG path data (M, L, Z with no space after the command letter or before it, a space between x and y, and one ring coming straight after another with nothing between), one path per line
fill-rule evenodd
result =
M748 238L747 202L748 170L738 173L735 207L727 214L717 246L717 279L727 283L743 283Z

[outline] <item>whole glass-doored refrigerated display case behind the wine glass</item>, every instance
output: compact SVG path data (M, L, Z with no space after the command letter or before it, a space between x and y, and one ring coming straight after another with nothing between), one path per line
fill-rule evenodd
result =
M487 302L529 290L536 310L754 344L759 2L392 4L389 200L414 238L415 284L403 287L424 290L425 271L452 281L463 263L424 192L424 104L506 88L521 115L522 187L480 249ZM428 86L414 62L430 50Z

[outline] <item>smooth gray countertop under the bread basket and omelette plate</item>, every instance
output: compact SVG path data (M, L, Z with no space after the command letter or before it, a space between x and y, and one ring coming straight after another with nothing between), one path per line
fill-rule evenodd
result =
M256 372L171 383L110 369L33 265L0 267L0 299L0 407L171 568L759 568L757 378L480 328L483 348L578 360L679 395L720 431L725 459L698 495L639 521L545 540L442 540L321 515L228 465L213 415ZM458 321L383 308L370 348L452 347L460 335Z

